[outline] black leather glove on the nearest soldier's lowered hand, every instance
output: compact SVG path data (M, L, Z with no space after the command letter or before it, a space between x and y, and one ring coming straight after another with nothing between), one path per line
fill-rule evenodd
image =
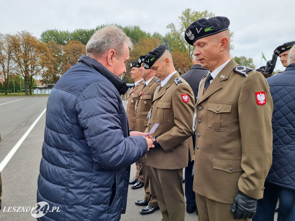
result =
M230 212L235 213L234 219L252 219L256 214L257 199L247 196L241 191L236 195Z

